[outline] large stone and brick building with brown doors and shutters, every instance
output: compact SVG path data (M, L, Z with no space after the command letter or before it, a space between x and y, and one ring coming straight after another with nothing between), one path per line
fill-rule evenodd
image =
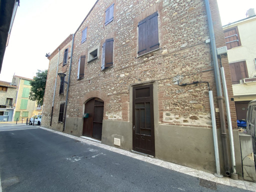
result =
M216 47L225 46L216 0L210 9ZM228 174L209 38L204 0L97 0L73 39L48 57L42 126L215 172L212 90L220 167ZM226 55L221 62L231 97Z

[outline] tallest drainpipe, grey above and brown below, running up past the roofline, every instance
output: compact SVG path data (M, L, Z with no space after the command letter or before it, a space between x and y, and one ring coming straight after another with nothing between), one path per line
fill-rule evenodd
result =
M204 2L205 2L207 18L208 18L211 53L212 53L212 57L213 57L214 76L215 76L216 89L217 89L217 100L218 100L219 116L220 116L220 126L221 126L221 137L222 137L222 144L223 144L223 153L224 153L225 174L227 176L229 176L230 175L230 170L229 170L230 166L229 166L229 156L228 156L228 147L227 147L227 135L226 135L226 127L225 127L223 97L222 97L222 91L221 91L220 76L219 76L219 71L218 71L218 62L217 62L217 52L216 52L214 30L213 30L213 24L212 24L212 20L211 20L209 1L204 0Z

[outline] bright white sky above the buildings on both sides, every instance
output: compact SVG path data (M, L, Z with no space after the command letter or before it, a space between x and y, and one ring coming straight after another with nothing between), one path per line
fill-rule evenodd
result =
M47 52L76 31L96 0L20 0L3 57L0 80L33 78L48 69ZM217 0L222 25L245 18L256 0Z

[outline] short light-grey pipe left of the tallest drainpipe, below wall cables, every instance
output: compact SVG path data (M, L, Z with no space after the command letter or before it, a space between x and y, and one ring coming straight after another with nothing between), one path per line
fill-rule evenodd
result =
M210 101L210 115L211 115L211 124L212 124L212 134L213 134L213 145L214 145L214 153L215 153L215 163L216 163L216 173L215 176L222 178L223 175L220 174L220 165L219 165L219 155L218 155L218 140L217 140L217 126L216 126L216 118L215 118L215 110L214 110L214 102L212 90L209 90L209 101Z

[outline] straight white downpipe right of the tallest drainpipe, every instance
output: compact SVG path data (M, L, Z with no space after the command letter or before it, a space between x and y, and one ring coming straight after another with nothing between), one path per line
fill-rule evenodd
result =
M234 156L234 138L233 138L233 130L232 130L231 117L230 117L229 101L228 101L227 88L226 88L225 72L224 72L223 67L220 67L220 72L221 72L221 77L222 77L224 98L225 98L225 103L226 103L226 116L227 116L227 125L228 125L229 140L230 140L232 171L233 171L233 174L236 174L235 156Z

